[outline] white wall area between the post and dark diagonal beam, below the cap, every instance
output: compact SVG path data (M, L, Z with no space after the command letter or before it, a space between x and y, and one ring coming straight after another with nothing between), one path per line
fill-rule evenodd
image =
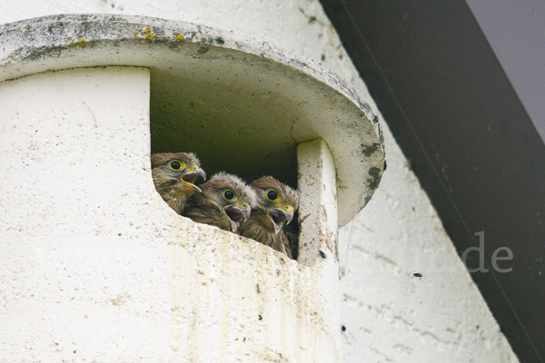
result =
M385 138L381 186L339 234L343 358L518 362L409 162Z

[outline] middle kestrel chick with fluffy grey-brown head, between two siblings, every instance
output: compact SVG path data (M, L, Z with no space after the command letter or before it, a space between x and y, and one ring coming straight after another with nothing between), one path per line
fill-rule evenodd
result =
M232 174L219 172L209 182L203 183L201 188L202 193L195 193L188 199L183 215L224 231L236 231L239 223L250 216L255 205L255 191ZM225 191L233 191L236 200L226 200Z

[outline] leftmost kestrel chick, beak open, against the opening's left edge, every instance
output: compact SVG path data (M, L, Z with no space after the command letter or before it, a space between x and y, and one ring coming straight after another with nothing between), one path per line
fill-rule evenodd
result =
M183 213L187 198L201 189L193 184L199 177L206 179L201 162L193 153L164 152L152 156L155 188L174 211Z

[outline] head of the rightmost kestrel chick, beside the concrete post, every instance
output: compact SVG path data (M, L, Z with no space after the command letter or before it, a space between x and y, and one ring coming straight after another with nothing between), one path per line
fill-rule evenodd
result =
M299 207L297 191L278 182L272 176L263 176L252 183L252 188L257 193L256 209L266 211L268 220L265 219L263 227L278 234L282 224L290 224L293 213Z

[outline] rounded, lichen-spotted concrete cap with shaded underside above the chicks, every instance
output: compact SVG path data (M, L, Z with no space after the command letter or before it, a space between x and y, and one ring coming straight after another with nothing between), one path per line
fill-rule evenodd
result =
M0 26L0 82L110 65L151 71L153 152L196 152L209 174L272 175L295 186L297 143L322 138L337 169L340 227L381 180L383 143L369 104L297 54L142 16L54 15Z

